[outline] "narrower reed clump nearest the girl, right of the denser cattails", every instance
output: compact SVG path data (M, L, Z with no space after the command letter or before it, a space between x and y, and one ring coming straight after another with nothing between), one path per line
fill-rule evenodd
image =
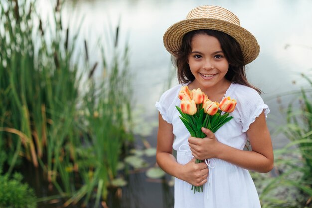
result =
M122 150L126 151L128 143L133 140L128 47L120 53L117 47L118 30L117 27L115 45L108 49L111 60L102 48L105 69L102 80L96 81L92 74L89 75L89 91L83 98L87 123L84 138L89 139L77 148L79 172L84 185L65 205L76 203L84 196L84 203L87 203L95 187L98 187L95 205L100 196L105 200L106 187L117 176L120 155L125 153Z

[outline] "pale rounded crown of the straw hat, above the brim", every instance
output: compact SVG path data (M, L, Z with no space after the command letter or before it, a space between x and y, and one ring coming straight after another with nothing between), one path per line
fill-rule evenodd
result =
M191 10L186 19L218 19L240 26L239 19L229 10L219 6L199 6Z

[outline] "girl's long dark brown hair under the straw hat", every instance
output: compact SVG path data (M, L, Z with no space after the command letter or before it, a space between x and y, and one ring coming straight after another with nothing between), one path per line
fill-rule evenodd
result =
M189 68L187 60L192 51L192 38L197 34L207 34L219 40L224 56L229 62L229 70L225 75L227 80L251 87L261 94L262 91L260 89L252 86L247 81L244 57L238 42L224 32L210 29L194 30L184 35L182 39L182 46L180 50L177 51L177 57L175 59L179 83L187 83L189 81L194 81L195 79Z

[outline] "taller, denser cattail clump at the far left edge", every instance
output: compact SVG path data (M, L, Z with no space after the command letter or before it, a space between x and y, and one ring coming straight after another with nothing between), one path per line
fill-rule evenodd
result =
M73 62L77 35L70 38L69 28L63 27L60 1L47 22L36 13L35 2L0 3L0 27L5 28L0 33L1 146L8 155L8 173L22 155L35 167L40 163L64 194L56 177L68 180L66 146L74 146L81 134L75 122L81 79ZM75 155L70 156L74 161ZM63 187L66 193L74 191L68 183Z

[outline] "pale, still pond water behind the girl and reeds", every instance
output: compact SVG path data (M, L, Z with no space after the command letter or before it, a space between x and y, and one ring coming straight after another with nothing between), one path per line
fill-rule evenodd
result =
M311 74L312 0L77 0L66 4L64 24L75 27L84 16L80 38L88 40L91 62L99 58L92 48L99 37L105 39L109 22L113 26L120 24L121 45L129 40L130 68L135 75L132 79L137 132L154 147L157 126L154 104L165 90L172 68L162 36L173 23L185 19L192 8L205 4L231 10L257 38L260 55L247 66L247 77L264 92L262 98L271 109L268 125L273 132L275 124L283 123L275 98L306 85L300 73ZM100 79L101 67L95 73ZM283 105L291 99L282 97ZM287 143L280 135L273 135L272 141L275 149ZM155 158L152 160L151 164L156 162ZM173 188L147 180L143 173L129 176L130 185L122 188L121 199L110 193L109 207L170 207Z

